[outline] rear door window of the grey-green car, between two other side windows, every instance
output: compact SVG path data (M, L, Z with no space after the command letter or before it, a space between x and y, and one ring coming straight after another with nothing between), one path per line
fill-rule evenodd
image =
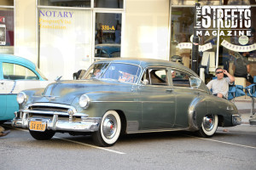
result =
M172 70L172 84L174 87L190 88L190 75L183 71Z

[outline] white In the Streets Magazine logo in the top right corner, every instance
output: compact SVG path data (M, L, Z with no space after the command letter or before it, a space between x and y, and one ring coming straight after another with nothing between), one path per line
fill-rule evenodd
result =
M197 36L251 36L251 6L196 6Z

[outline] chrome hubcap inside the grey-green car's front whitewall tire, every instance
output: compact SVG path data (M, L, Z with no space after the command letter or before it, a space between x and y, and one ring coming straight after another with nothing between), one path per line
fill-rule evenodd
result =
M109 115L104 119L102 132L107 139L112 139L117 130L117 122L113 115Z

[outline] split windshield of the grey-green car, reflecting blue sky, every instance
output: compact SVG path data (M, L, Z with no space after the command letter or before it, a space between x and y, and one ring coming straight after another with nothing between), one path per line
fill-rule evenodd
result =
M82 79L108 79L119 82L137 82L141 68L124 63L98 63L91 65Z

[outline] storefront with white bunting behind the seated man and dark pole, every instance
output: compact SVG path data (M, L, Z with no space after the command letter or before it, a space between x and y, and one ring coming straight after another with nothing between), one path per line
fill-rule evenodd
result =
M236 63L242 58L241 55L245 55L245 59L249 61L250 65L250 75L256 75L256 2L250 0L212 0L212 1L199 1L201 6L220 6L219 8L236 8L240 7L241 11L244 8L250 10L251 15L249 16L251 20L251 25L244 29L245 27L240 27L240 22L246 20L246 14L243 14L240 19L238 19L238 24L234 28L225 27L221 24L224 20L231 18L231 9L229 13L223 14L223 19L221 20L220 26L209 27L207 30L200 31L199 38L199 64L200 76L206 82L209 81L212 76L214 76L214 71L217 67L224 68L229 71L231 75L234 75L236 71ZM229 6L229 7L228 7ZM224 10L222 10L224 11ZM236 14L235 12L232 14ZM226 15L230 15L225 18ZM194 29L194 16L195 16L195 1L184 0L184 1L172 1L171 8L171 54L172 56L180 56L183 65L191 68L191 48L192 48L192 35ZM213 15L211 16L213 20ZM235 19L234 19L235 20ZM236 22L237 22L236 21ZM213 21L212 21L213 22ZM233 24L233 23L231 23ZM234 25L235 25L234 24ZM237 26L238 25L238 26ZM232 30L232 31L228 31ZM247 32L250 31L250 35ZM177 56L176 56L177 55ZM174 57L174 58L175 58ZM240 62L241 65L241 62ZM239 78L237 78L238 80Z

